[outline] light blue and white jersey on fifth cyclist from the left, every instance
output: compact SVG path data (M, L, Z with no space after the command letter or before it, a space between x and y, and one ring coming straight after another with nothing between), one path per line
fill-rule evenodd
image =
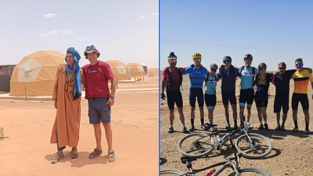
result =
M238 68L241 70L241 67ZM241 83L240 88L241 89L253 89L253 82L254 82L254 75L259 73L259 69L255 68L254 74L253 74L253 67L250 66L249 69L245 68L241 71Z

